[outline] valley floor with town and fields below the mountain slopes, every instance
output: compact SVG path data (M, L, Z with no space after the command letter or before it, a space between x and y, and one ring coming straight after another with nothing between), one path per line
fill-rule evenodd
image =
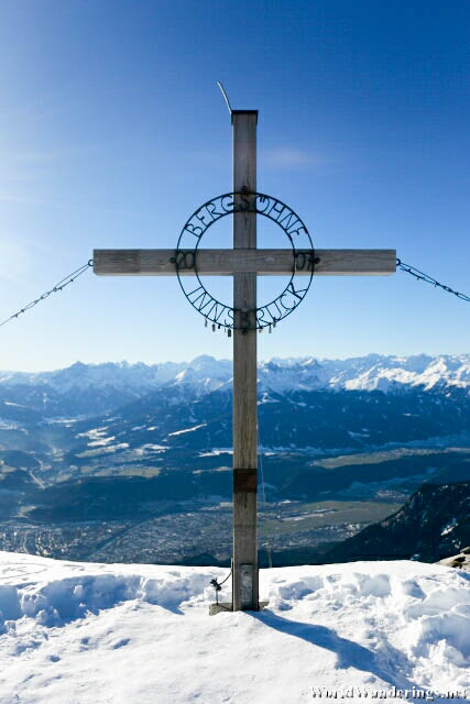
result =
M131 466L129 474L48 485L41 485L37 470L3 464L2 484L15 477L22 485L0 490L0 549L110 563L229 565L231 455L218 457L223 462L218 468L163 469L145 476L143 468L135 474ZM323 563L329 549L394 514L423 483L439 475L464 479L470 447L397 448L321 460L272 453L262 462L260 563L281 566Z

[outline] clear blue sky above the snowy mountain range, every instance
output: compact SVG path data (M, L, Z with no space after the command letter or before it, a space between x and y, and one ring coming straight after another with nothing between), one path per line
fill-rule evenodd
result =
M94 248L174 246L231 189L217 79L260 110L259 190L316 246L395 248L470 293L467 0L7 0L1 14L0 318ZM260 355L469 352L469 304L405 274L323 277ZM175 279L91 273L0 341L2 370L231 355Z

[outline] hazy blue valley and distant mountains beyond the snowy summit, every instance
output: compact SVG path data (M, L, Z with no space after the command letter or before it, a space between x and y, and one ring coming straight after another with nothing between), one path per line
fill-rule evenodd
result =
M470 362L459 363L260 370L262 565L328 561L423 484L469 481ZM153 383L150 367L101 366L0 374L0 550L229 565L230 365L204 358Z

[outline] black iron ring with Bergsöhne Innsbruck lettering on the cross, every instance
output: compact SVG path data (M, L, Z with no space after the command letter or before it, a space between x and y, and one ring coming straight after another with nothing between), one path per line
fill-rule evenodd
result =
M218 300L207 290L197 270L204 234L215 222L236 212L255 212L273 220L283 230L292 248L292 273L282 293L255 310L237 311L240 316L236 316L232 306ZM179 234L172 261L184 295L193 308L206 318L206 324L211 321L212 329L249 330L269 327L271 330L271 327L291 315L305 298L314 276L315 250L304 222L278 198L259 193L230 193L208 200L190 216ZM189 273L188 270L195 274L197 283L193 276L182 277L183 273ZM303 272L302 279L297 277L298 272ZM204 273L200 275L204 276ZM236 320L240 320L237 326Z

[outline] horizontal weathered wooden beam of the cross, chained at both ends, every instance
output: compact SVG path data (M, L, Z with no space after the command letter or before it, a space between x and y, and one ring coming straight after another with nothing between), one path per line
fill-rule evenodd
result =
M205 276L252 272L260 276L310 274L309 250L198 250L196 268ZM95 250L98 276L194 276L194 250ZM395 250L315 250L315 276L386 276L396 271Z

